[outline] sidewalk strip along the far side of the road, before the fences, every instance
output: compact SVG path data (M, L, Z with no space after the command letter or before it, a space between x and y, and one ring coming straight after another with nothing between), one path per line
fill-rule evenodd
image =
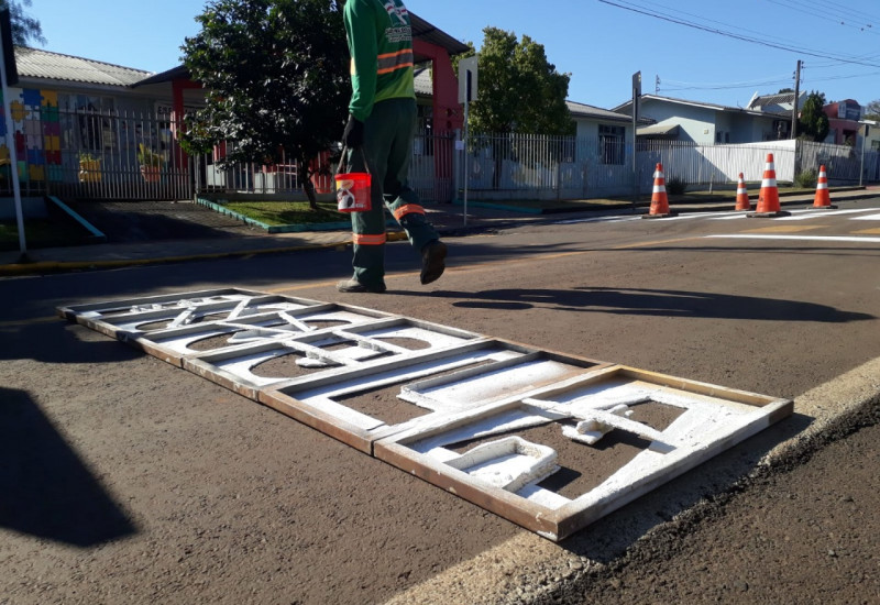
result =
M833 193L833 202L880 197L880 188ZM809 207L813 195L781 196L780 205L785 207ZM700 211L733 210L733 196L729 202L670 204L680 213ZM461 205L431 205L426 207L429 220L443 237L459 237L516 224L535 224L582 216L642 215L647 206L635 209L629 202L592 206L583 211L527 213L514 211L503 204L474 202L469 205L468 220ZM389 241L404 240L400 231L392 230ZM117 268L153 263L170 263L190 260L218 258L251 254L277 254L300 250L338 248L351 243L351 232L310 231L298 233L260 233L222 239L162 240L135 243L100 243L69 248L43 248L29 250L26 258L19 251L0 252L0 277L13 275L38 275L66 271L89 271Z

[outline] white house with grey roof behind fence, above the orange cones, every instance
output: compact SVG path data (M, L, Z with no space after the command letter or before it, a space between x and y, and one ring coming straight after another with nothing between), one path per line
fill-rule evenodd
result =
M622 103L612 111L631 116L632 101ZM639 97L639 117L654 122L638 129L640 139L658 138L703 145L776 141L785 121L784 117L754 109L658 95Z

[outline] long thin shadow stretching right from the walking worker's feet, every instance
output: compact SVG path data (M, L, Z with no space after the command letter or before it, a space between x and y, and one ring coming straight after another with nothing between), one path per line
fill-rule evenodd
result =
M394 292L396 295L424 296L420 293ZM772 321L816 321L846 323L876 319L860 312L842 311L826 305L759 298L706 292L645 288L579 287L573 289L495 289L482 292L431 293L432 297L455 299L454 307L498 310L556 307L564 311L693 317L710 319L752 319Z

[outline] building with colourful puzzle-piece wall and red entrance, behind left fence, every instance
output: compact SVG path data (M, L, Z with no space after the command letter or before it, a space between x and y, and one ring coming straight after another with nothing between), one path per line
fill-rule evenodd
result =
M413 13L410 20L416 62L429 65L431 75L431 97L427 102L422 98L420 118L433 132L454 131L464 117L450 56L469 47ZM22 190L187 199L194 196L194 183L206 185L206 167L194 166L176 142L184 112L205 98L184 66L152 74L25 47L15 48L15 59L19 82L9 89L13 132L0 123L0 163L9 160L14 144ZM162 156L161 182L150 186L144 186L136 160L141 145ZM253 188L254 168L243 170L221 175L226 180L220 186ZM436 170L436 176L451 179L451 162ZM263 174L262 168L256 172ZM295 173L289 186L297 188ZM0 167L0 190L11 190L8 166Z

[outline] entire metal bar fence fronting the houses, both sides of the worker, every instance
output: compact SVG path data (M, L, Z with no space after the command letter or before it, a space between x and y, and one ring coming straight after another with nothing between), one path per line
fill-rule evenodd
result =
M14 141L25 195L122 200L191 199L201 191L302 195L300 170L293 161L220 169L217 160L234 143L210 156L187 156L176 142L178 124L167 114L52 108L31 112L20 128L7 141ZM157 174L142 170L142 146L158 154ZM691 188L736 183L739 173L747 180L760 180L769 153L777 179L783 183L804 170L817 172L821 165L832 183L880 182L878 152L844 145L639 141L634 162L631 142L617 135L496 134L471 136L465 143L459 133L425 132L414 143L409 183L425 201L451 201L465 184L472 199L588 199L649 193L658 163L668 180L678 178ZM332 190L336 167L328 155L316 158L326 174L312 178L317 190L326 194ZM11 169L0 162L0 194L11 193Z

